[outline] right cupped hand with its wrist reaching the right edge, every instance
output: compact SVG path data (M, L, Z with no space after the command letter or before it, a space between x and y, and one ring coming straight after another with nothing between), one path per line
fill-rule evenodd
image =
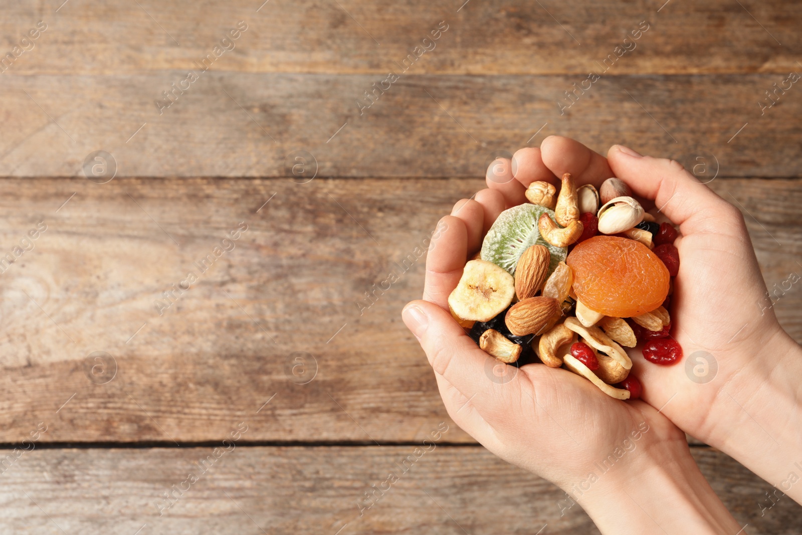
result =
M664 367L629 351L642 398L802 503L802 351L776 320L739 210L677 162L620 146L604 158L559 136L491 166L487 182L508 207L564 172L596 186L618 176L682 233L670 313L684 358Z

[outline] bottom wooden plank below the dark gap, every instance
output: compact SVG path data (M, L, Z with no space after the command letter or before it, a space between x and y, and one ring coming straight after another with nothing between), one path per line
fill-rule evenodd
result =
M24 453L3 474L5 533L599 533L565 492L481 447L63 449ZM799 533L785 497L761 516L759 477L694 448L703 473L755 535ZM213 462L209 461L213 456ZM205 468L200 465L206 460ZM407 467L410 463L407 464ZM378 501L361 501L393 472ZM193 484L183 484L190 474ZM602 475L603 477L603 475ZM168 501L165 492L175 491ZM385 488L387 485L385 485ZM376 496L379 496L377 492ZM160 516L160 511L164 514ZM260 529L261 528L261 529ZM464 530L464 531L463 531Z

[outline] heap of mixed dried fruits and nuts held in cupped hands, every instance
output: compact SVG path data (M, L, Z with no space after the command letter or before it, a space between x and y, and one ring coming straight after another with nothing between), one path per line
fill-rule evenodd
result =
M643 342L656 364L682 358L667 310L679 255L676 229L631 195L617 178L597 190L565 173L559 194L529 184L531 204L502 212L465 265L448 297L452 316L501 362L537 355L614 398L640 397L622 346Z

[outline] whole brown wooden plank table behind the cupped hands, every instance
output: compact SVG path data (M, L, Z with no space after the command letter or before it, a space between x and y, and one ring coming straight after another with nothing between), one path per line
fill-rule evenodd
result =
M798 2L61 1L0 20L2 533L597 533L453 424L399 317L435 221L551 134L682 161L770 288L802 273L802 88L765 93Z

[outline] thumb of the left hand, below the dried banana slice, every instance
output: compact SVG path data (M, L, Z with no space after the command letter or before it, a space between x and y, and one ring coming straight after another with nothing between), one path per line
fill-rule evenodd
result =
M404 307L402 317L419 339L435 373L467 398L476 396L476 405L483 411L491 410L488 403L495 403L492 399L498 397L493 395L493 387L508 387L520 380L520 374L516 374L504 385L493 383L488 378L488 370L492 372L496 359L480 350L448 311L430 302L413 301Z

